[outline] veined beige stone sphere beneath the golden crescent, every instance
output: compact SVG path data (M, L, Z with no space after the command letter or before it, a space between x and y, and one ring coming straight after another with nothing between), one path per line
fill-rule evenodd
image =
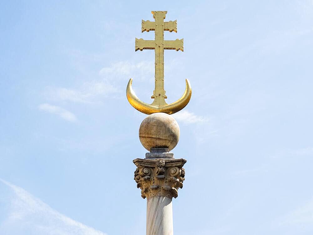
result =
M140 142L148 151L151 148L168 148L171 151L178 143L179 134L176 120L162 112L150 114L139 128Z

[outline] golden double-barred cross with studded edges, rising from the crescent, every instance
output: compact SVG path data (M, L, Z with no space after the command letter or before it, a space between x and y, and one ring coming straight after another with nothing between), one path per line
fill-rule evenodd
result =
M155 50L155 88L151 96L152 105L166 105L167 98L164 90L164 49L184 51L184 39L164 40L164 31L177 33L177 20L164 22L167 11L152 11L155 22L142 20L142 32L155 31L155 40L135 39L135 50Z

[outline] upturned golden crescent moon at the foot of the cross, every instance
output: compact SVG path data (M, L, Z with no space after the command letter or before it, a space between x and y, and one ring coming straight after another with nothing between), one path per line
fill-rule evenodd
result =
M173 114L175 112L178 112L182 110L190 101L191 98L191 86L188 79L186 79L186 89L182 97L180 97L179 100L171 103L166 104L162 106L156 106L152 104L147 104L145 102L142 102L135 94L135 91L132 89L131 84L133 82L133 79L131 78L128 81L127 88L126 88L126 97L128 102L131 104L132 107L136 108L138 111L146 113L146 114L152 114L156 112L164 112L167 114Z

